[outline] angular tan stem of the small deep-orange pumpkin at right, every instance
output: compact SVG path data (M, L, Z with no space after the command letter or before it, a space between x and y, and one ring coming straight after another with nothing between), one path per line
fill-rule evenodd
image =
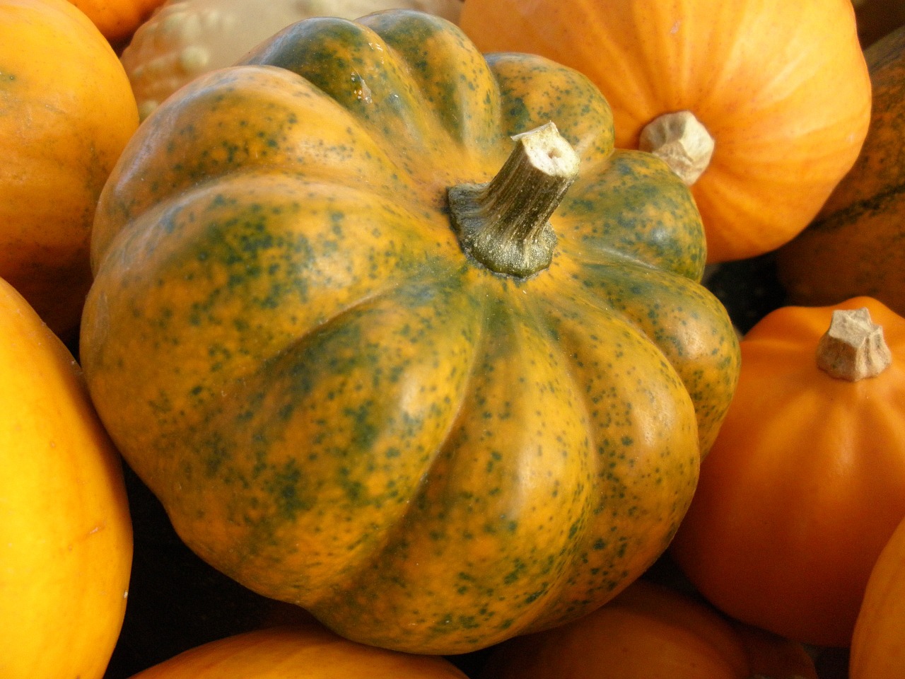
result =
M882 326L867 307L833 311L830 328L817 343L817 366L830 376L856 382L879 375L892 362Z

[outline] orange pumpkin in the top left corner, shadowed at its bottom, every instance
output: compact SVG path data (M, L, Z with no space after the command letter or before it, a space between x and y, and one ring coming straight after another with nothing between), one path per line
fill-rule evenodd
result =
M90 286L100 189L137 127L129 79L84 14L0 0L0 277L65 339Z

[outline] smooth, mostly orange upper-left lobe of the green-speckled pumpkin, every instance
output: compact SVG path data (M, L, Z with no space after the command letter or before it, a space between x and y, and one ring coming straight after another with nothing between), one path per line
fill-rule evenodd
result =
M205 135L197 125L199 118L233 139L227 143ZM186 85L183 96L167 100L142 123L129 141L129 152L142 153L156 143L156 130L168 126L178 130L178 144L168 144L142 164L140 172L119 167L117 186L105 187L92 231L95 267L121 225L154 203L180 199L180 193L199 186L199 181L281 169L367 186L369 193L407 206L423 202L415 196L416 175L400 171L404 168L399 159L389 153L392 145L381 143L314 83L277 66L252 64L205 73Z

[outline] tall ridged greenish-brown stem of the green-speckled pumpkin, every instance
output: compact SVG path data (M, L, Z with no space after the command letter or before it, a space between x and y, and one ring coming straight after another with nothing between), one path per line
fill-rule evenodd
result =
M493 272L525 278L553 260L548 219L578 176L579 159L552 122L512 139L496 177L450 186L447 197L462 249Z

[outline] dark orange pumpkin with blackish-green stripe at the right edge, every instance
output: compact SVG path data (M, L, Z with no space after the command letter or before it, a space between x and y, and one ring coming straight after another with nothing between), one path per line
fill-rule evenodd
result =
M867 295L905 314L905 26L865 55L873 110L862 153L814 223L776 253L776 273L794 304Z

